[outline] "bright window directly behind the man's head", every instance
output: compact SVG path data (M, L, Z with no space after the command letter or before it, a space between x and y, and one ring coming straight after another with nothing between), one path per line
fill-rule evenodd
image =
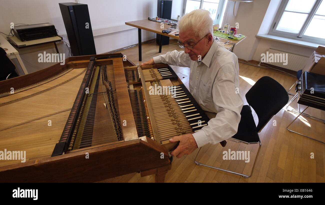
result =
M183 15L201 8L210 11L214 24L220 24L225 1L227 0L184 0Z

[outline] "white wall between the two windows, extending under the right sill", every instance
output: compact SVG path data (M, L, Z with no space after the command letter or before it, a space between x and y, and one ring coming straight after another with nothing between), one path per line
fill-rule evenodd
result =
M281 43L278 41L257 38L256 34L266 34L277 11L280 0L254 0L251 3L240 3L236 17L233 16L233 1L228 1L223 24L234 26L239 23L238 33L247 38L236 45L234 53L245 60L261 60L261 53L269 48L310 56L315 50L312 48ZM268 8L270 4L270 7Z

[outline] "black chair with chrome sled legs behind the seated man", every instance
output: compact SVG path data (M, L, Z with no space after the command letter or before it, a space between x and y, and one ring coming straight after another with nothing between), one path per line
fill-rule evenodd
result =
M249 105L244 105L241 109L240 122L238 125L237 134L230 137L228 140L237 142L237 143L245 143L245 144L257 144L260 146L258 148L258 152L254 161L253 169L250 175L245 175L242 173L236 173L228 170L224 170L217 167L212 167L206 164L202 164L196 161L198 154L195 157L194 162L197 165L203 165L210 168L222 170L229 173L234 173L243 176L244 178L248 178L252 176L255 163L258 157L258 154L261 149L261 141L258 136L258 133L264 128L264 126L270 121L273 115L277 114L288 102L289 96L284 87L275 81L274 79L264 76L260 78L253 87L246 93L247 103ZM255 110L258 117L258 124L256 126L254 122L254 118L252 115L251 107Z

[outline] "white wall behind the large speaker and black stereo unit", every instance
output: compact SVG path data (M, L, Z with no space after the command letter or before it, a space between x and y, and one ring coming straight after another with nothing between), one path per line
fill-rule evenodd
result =
M8 34L11 22L15 24L49 22L55 25L63 38L67 39L59 9L59 3L62 2L75 1L0 0L0 31ZM79 0L79 3L88 5L97 54L138 43L137 29L126 26L124 22L147 19L149 16L155 17L157 15L157 0ZM4 34L2 35L5 36ZM153 38L155 38L154 33L142 31L142 41ZM52 47L48 48L48 46L45 46L44 49L46 52L55 53L54 45ZM61 53L65 52L66 57L68 57L66 45L59 44L58 48ZM43 52L42 48L39 49L39 51L33 50L31 53L28 53L27 48L21 51L24 53L21 57L29 72L40 70L40 67L46 68L53 64L37 64L37 55Z

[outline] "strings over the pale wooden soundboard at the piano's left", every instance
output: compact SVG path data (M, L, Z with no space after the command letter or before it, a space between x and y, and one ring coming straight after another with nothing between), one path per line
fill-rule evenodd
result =
M24 150L27 159L50 156L84 74L85 68L69 69L0 98L0 150ZM1 160L2 166L14 163Z

